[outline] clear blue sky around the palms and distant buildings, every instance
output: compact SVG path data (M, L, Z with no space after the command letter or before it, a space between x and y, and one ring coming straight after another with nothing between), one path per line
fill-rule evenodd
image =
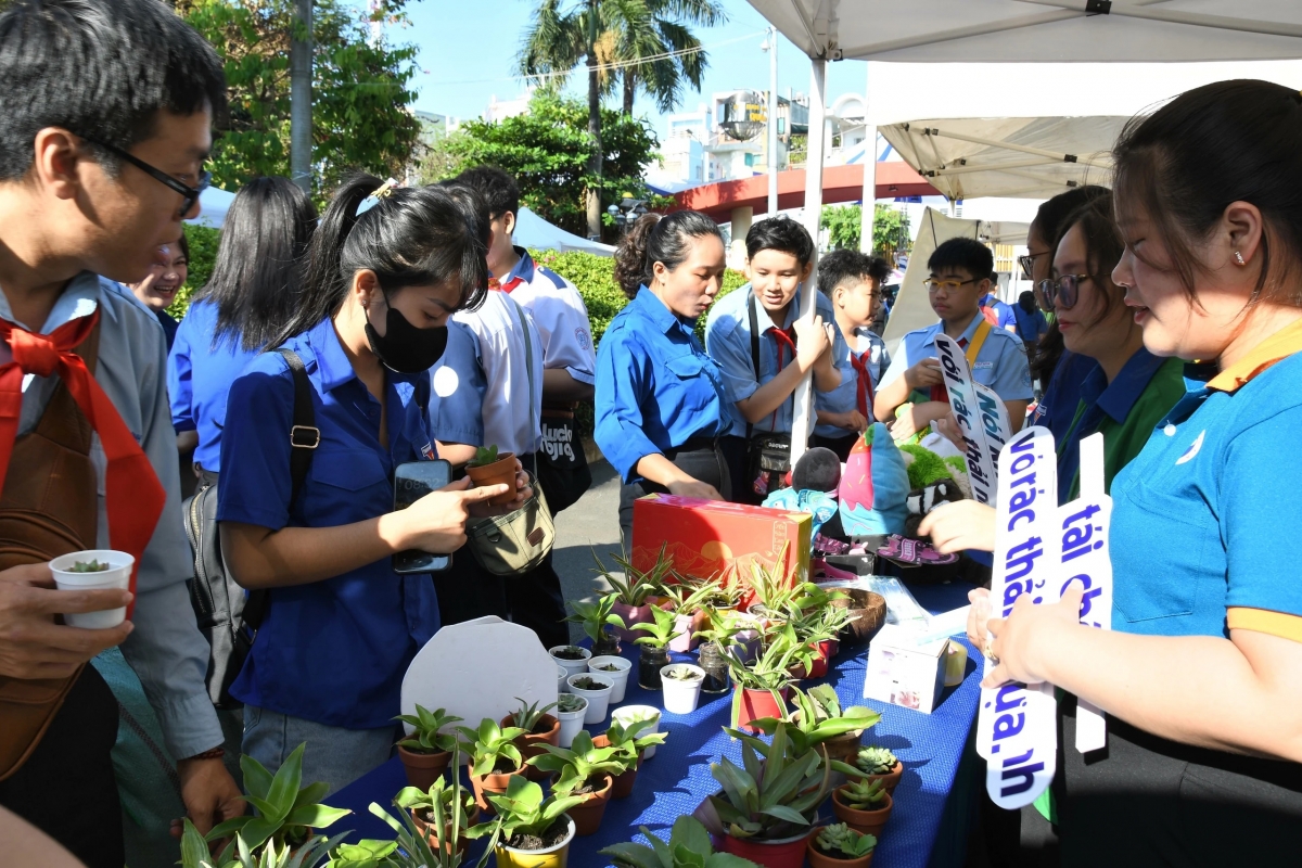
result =
M568 0L566 8L579 0ZM499 100L523 92L523 82L514 77L516 53L530 23L535 0L418 0L410 9L411 26L392 34L396 40L413 42L421 48L419 70L413 82L419 92L418 109L477 117L493 95ZM760 51L764 18L745 0L723 0L728 23L702 29L697 36L707 46L710 68L702 82L700 95L686 91L678 111L694 111L710 103L713 91L768 87L768 55ZM723 44L720 44L723 43ZM809 91L810 61L784 36L779 35L777 86ZM845 61L828 66L828 103L844 92L863 92L865 64ZM570 78L569 90L586 94L582 74ZM661 115L644 98L634 108L651 118L661 135Z

